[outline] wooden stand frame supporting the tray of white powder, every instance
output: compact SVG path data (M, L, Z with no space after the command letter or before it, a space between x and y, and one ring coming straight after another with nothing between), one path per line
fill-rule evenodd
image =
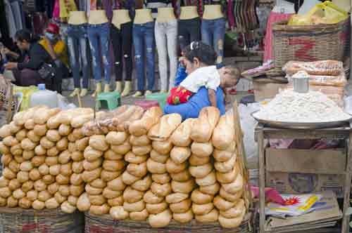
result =
M264 140L270 139L318 139L318 138L327 138L327 139L340 139L345 140L346 149L344 150L344 154L346 157L344 159L344 164L324 164L319 163L318 157L311 157L309 164L313 164L313 166L317 166L320 164L324 166L323 168L317 168L316 173L320 174L339 174L344 176L344 204L343 204L343 213L346 212L346 209L349 206L350 200L350 192L351 192L351 149L352 149L352 131L351 125L344 125L339 128L322 128L322 129L284 129L284 128L270 128L264 126L263 124L258 124L256 127L256 140L258 141L258 155L259 155L259 213L260 213L260 233L269 232L265 229L266 221L265 221L265 174L268 171L267 166L265 164L266 154L265 154L265 143ZM349 143L347 145L349 139ZM317 152L318 153L318 152ZM316 154L317 154L316 153ZM298 153L295 154L298 156ZM327 156L330 154L327 153ZM321 158L320 158L321 159ZM341 169L344 168L344 169ZM340 168L340 169L339 169ZM298 169L298 168L297 168ZM302 172L308 173L308 171L304 171L305 168L299 168L302 171L291 171L291 172ZM342 170L342 171L341 171ZM348 220L349 216L343 215L342 219L342 227L341 232L348 232ZM297 229L298 230L298 229ZM303 230L303 229L302 229Z

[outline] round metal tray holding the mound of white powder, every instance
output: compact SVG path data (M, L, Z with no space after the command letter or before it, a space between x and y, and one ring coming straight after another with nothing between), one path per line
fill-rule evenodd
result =
M259 111L256 111L259 112ZM265 126L270 126L273 128L289 128L289 129L318 129L318 128L337 128L339 126L346 126L348 122L352 121L352 116L346 121L330 121L330 122L284 122L284 121L268 121L263 119L258 119L254 116L256 112L252 112L251 116L256 119L260 124Z

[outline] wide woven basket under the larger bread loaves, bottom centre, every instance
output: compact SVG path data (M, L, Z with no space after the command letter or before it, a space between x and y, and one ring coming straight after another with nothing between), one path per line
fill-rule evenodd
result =
M247 214L244 222L236 229L225 229L218 224L199 224L195 220L187 224L170 222L167 227L152 228L148 222L131 220L113 220L110 215L85 214L85 233L249 233L251 232L251 214Z

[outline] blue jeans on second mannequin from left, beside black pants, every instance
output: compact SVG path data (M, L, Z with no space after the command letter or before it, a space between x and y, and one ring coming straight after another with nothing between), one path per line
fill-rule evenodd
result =
M93 70L95 81L101 81L101 58L103 58L104 79L110 84L111 64L109 57L110 23L88 25L89 45L92 51ZM101 51L101 55L99 53Z

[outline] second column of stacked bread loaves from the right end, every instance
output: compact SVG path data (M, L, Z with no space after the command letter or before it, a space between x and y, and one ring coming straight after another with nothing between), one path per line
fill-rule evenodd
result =
M206 107L201 110L199 118L194 120L191 129L191 165L189 172L196 178L199 186L192 192L192 211L199 222L215 222L219 212L213 204L215 194L219 192L220 185L216 180L211 135L218 124L220 112L217 108Z

